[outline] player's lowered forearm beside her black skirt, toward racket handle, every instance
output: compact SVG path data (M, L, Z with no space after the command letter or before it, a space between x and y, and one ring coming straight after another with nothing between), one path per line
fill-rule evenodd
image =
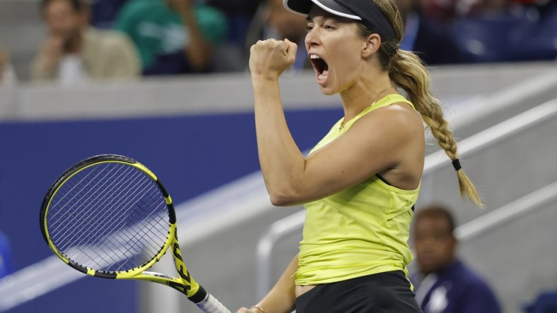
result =
M296 302L293 275L297 270L298 255L288 264L271 291L257 304L264 309L265 313L289 313L293 311Z

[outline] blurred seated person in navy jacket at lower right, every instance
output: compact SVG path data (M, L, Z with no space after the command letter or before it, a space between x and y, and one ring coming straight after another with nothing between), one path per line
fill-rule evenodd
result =
M424 313L499 313L486 281L455 256L455 222L443 207L428 207L414 217L414 248L419 272L410 279Z

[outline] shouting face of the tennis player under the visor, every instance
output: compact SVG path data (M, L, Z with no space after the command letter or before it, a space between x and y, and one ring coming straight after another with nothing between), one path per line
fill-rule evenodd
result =
M363 47L365 39L353 20L312 7L305 48L324 94L336 94L356 83L363 69Z

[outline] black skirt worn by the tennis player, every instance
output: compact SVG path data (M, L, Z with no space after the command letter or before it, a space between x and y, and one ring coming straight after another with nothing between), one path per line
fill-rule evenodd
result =
M296 299L296 313L420 313L402 271L325 283Z

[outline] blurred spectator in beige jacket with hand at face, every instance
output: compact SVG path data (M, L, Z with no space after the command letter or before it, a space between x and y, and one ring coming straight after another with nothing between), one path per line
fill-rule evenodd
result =
M33 80L73 85L90 79L139 75L133 44L118 32L90 27L85 2L42 0L40 8L48 37L33 61Z

